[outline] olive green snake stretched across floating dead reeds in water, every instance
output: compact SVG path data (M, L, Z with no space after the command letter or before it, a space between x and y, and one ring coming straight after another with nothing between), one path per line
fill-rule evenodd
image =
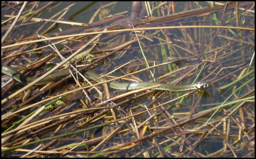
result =
M10 66L7 65L2 65L2 73L11 76L14 78L16 81L24 84L29 84L36 80L37 78L33 77L27 77L23 75L22 73L16 71ZM62 78L65 78L70 75L69 71L61 71L61 72L56 72L45 79L42 79L36 85L41 85L41 84L46 84L50 83L53 81L60 80ZM89 78L91 80L95 80L99 78L100 76L96 73L93 73L91 71L84 71L83 72L84 77ZM97 82L102 82L106 80L105 78L101 78L97 80ZM120 90L132 90L132 89L140 89L140 88L145 88L148 86L154 86L160 84L160 87L153 88L154 90L167 90L169 92L180 92L180 91L185 91L185 90L193 90L193 89L201 89L208 87L210 83L208 82L201 82L201 83L196 83L196 84L188 84L188 85L168 85L168 84L163 84L163 83L157 83L157 82L110 82L109 85L111 88L114 89L120 89Z

